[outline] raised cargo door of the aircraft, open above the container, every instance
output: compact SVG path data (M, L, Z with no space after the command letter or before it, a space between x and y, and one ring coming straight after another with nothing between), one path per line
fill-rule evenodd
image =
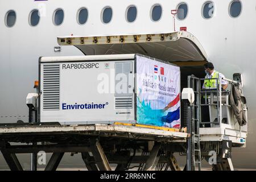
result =
M200 42L186 31L167 34L64 36L60 46L75 46L85 55L140 53L156 59L176 61L206 61L207 53Z

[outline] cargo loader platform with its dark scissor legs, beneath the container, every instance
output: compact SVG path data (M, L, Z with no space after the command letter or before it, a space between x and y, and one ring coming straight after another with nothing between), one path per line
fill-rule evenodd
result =
M59 125L22 123L0 125L0 150L11 170L23 170L15 154L32 153L34 170L39 151L53 153L46 170L56 170L65 152L81 152L88 170L133 168L143 170L177 166L174 152L185 152L188 133L179 129L114 123L114 125ZM18 144L13 144L18 143ZM96 166L97 164L97 166Z

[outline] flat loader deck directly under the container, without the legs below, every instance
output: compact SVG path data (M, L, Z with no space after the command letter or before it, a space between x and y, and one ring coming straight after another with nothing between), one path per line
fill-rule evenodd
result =
M155 140L165 142L185 142L188 133L168 130L160 130L147 127L127 126L127 125L1 125L0 140L9 142L44 142L54 140L55 137L110 137L110 138L129 138L142 140ZM42 138L42 139L40 139ZM48 138L48 139L47 139ZM77 138L77 139L79 139ZM59 141L59 140L58 140ZM52 141L56 142L56 141Z

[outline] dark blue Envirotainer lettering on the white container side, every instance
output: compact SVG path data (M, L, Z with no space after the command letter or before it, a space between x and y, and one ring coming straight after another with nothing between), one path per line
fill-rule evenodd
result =
M63 110L74 110L74 109L105 109L106 105L108 105L109 102L106 102L105 104L94 104L93 102L91 104L62 104Z

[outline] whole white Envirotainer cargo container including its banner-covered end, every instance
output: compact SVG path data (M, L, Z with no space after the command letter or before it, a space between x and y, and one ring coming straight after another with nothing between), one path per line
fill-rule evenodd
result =
M39 120L180 128L180 68L139 54L40 57Z

